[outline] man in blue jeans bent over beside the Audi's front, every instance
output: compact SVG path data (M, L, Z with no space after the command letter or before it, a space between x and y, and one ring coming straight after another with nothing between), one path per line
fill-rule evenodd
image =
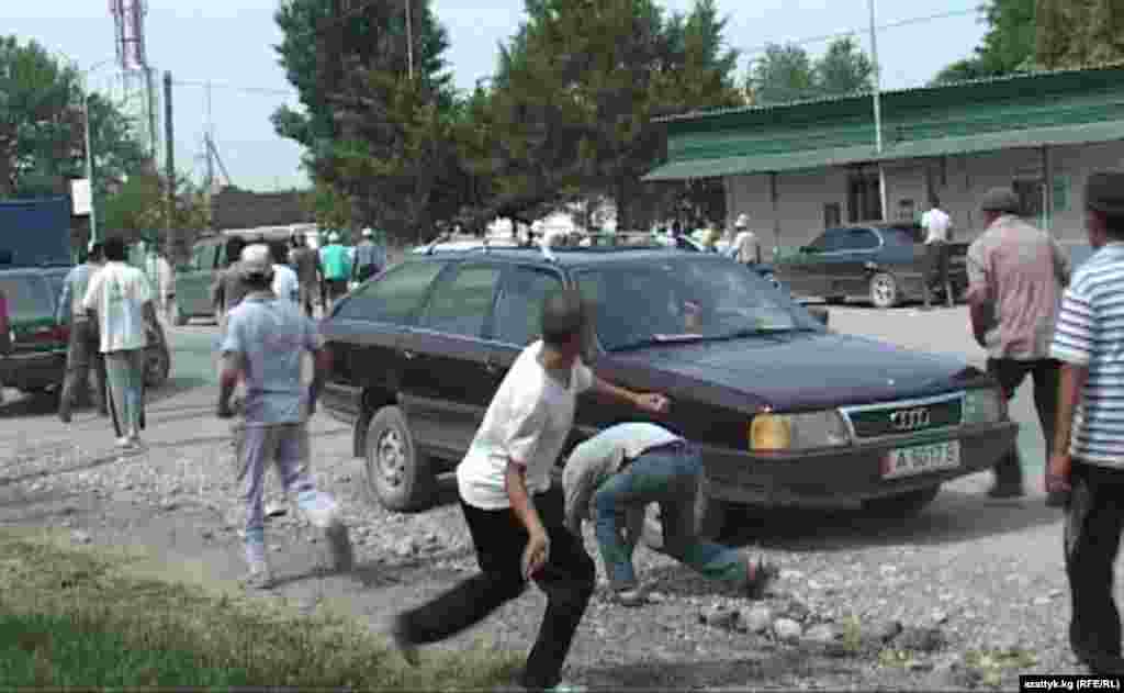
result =
M695 531L695 502L703 458L681 436L653 423L610 426L574 448L566 460L566 526L581 536L590 505L597 544L617 600L633 606L644 601L632 557L644 508L660 504L668 555L710 579L727 582L750 598L761 598L777 569L729 547L703 541Z

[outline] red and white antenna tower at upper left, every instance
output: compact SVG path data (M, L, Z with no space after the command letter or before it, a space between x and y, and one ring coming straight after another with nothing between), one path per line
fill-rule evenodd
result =
M109 0L117 29L117 64L121 72L121 108L137 128L153 166L160 152L160 110L153 70L148 65L144 18L147 0Z

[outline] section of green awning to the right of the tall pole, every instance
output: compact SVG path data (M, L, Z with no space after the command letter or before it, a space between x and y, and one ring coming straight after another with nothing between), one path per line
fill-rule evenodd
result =
M1081 123L1030 129L1008 129L998 133L969 135L967 137L940 137L936 140L892 143L886 147L882 156L879 159L891 161L923 156L949 156L1025 147L1093 144L1097 142L1113 142L1115 140L1124 140L1124 120L1104 120L1100 123Z

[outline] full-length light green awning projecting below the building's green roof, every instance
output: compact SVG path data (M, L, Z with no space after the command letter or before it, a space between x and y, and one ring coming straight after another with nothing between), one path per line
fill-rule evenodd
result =
M873 145L869 145L810 150L787 154L767 154L762 156L724 156L677 161L656 168L645 176L643 180L668 181L746 176L751 173L780 173L874 161L969 154L1019 147L1089 144L1116 140L1124 140L1124 120L1013 129L966 137L918 140L885 147L881 154L874 152Z

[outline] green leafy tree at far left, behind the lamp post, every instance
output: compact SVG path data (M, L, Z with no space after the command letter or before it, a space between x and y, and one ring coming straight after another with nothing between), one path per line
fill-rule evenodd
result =
M84 177L80 74L39 44L0 37L0 198L66 191ZM138 171L145 152L132 124L107 99L89 98L99 197Z

